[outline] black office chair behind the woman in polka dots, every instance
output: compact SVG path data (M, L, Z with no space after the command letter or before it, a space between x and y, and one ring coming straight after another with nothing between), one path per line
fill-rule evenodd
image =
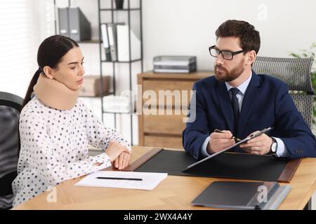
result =
M0 92L0 209L10 209L13 202L12 182L17 176L20 139L19 116L23 99Z

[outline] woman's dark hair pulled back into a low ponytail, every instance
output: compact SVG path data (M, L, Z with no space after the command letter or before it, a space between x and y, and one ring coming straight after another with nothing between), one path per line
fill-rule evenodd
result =
M50 36L39 45L39 50L37 51L37 64L39 65L39 69L34 73L29 83L22 109L31 100L33 87L39 79L39 74L44 72L44 66L50 66L52 69L56 69L61 58L74 47L79 47L76 41L61 35Z

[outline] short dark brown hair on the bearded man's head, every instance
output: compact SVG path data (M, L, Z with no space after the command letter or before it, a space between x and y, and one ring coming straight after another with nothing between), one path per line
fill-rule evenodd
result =
M236 36L239 37L240 47L244 52L250 50L258 54L260 48L260 34L249 22L241 20L227 20L216 29L216 39L218 37Z

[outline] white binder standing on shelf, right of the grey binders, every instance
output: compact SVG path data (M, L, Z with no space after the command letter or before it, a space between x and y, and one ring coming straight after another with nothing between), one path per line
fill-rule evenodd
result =
M129 25L117 25L117 53L119 62L140 59L140 40L131 29L131 58L129 58Z

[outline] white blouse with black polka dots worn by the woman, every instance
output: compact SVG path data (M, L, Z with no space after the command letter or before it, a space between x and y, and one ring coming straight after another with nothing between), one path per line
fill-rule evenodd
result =
M62 181L109 167L105 153L88 156L88 144L106 152L110 141L117 141L131 150L128 142L105 127L80 99L72 109L60 111L34 96L20 113L19 130L21 148L18 176L12 183L13 207ZM103 164L93 166L96 162Z

